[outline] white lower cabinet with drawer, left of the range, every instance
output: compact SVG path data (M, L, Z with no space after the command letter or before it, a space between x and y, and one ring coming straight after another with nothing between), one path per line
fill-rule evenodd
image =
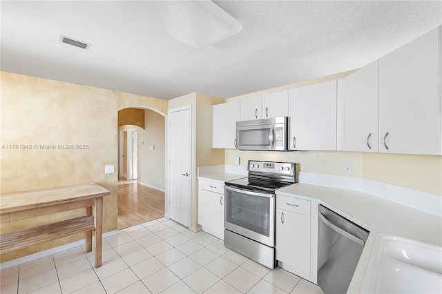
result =
M202 231L224 239L224 183L199 180L198 222Z

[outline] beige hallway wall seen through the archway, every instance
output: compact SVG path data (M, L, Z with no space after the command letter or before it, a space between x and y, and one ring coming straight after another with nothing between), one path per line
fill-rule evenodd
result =
M165 119L155 111L146 110L144 121L145 129L138 128L138 182L164 190ZM153 150L151 145L154 146Z

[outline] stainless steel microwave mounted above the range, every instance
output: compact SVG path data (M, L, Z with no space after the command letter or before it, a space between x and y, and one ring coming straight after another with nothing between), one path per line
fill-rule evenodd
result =
M287 151L287 117L236 122L236 148Z

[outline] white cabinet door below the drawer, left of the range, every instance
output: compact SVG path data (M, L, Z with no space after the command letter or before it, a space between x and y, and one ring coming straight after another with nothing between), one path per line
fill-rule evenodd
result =
M203 231L224 239L224 195L200 190L198 195L198 222Z

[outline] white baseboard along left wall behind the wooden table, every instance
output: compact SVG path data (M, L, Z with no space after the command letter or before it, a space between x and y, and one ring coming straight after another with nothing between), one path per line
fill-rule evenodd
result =
M107 237L112 237L112 236L115 236L115 235L118 235L118 231L117 230L111 231L111 232L106 232L106 233L103 233L103 239L107 238ZM95 237L92 237L92 241L95 242ZM39 259L39 258L42 258L42 257L46 257L46 256L49 256L49 255L52 255L52 254L60 253L62 251L66 251L66 250L69 250L69 249L72 249L72 248L75 248L75 247L78 247L78 246L82 246L84 244L86 244L86 240L81 239L81 240L78 240L76 242L64 244L64 245L61 245L61 246L58 246L58 247L55 247L55 248L50 248L50 249L45 250L45 251L40 251L40 252L37 252L37 253L32 253L30 255L26 255L26 256L23 256L23 257L16 258L16 259L12 259L9 262L2 262L0 264L0 268L3 270L4 268L10 268L11 266L17 266L19 264L24 264L26 262L32 262L33 260L36 260L36 259Z

